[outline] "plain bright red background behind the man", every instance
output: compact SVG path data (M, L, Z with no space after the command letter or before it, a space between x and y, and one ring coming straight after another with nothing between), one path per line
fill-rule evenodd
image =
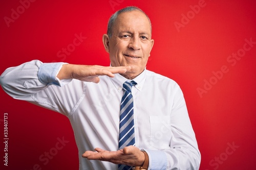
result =
M181 86L202 154L200 169L254 169L256 44L236 64L227 59L243 48L245 39L256 41L256 3L205 0L195 14L190 6L198 3L47 0L32 2L22 11L17 0L1 1L0 72L33 59L109 66L102 44L108 19L118 9L138 6L151 18L155 39L147 69ZM17 8L19 17L8 27L4 18L11 18L12 9ZM188 23L182 14L189 15ZM182 21L178 32L175 22ZM87 38L66 58L58 57L58 51L80 33ZM214 78L212 71L219 72L222 66L228 71ZM205 81L214 85L200 96L197 89L204 89ZM0 94L1 169L78 169L78 150L68 118L14 100L2 89ZM8 113L8 166L3 161L4 113ZM69 142L56 150L57 138L62 137ZM230 150L228 143L239 148ZM44 164L39 157L49 151L57 153Z

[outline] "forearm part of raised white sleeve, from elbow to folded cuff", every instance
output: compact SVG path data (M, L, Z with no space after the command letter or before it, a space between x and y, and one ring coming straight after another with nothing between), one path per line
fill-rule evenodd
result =
M19 66L9 67L1 75L0 84L14 99L26 100L24 98L49 85L65 85L67 80L61 82L56 77L63 64L65 63L42 63L39 60L32 60Z

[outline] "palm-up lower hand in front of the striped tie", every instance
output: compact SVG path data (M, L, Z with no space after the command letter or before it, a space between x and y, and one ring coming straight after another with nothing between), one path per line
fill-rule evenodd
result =
M115 164L125 164L129 166L142 166L145 160L145 155L139 148L134 146L124 147L118 151L105 151L100 148L93 151L86 151L82 154L83 158L108 161Z

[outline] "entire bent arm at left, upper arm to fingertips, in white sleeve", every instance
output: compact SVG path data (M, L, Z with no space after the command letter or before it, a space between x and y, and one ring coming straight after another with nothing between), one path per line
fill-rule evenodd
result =
M113 77L113 74L123 73L127 69L129 67L42 63L39 60L33 60L7 68L0 77L0 84L4 91L14 99L28 101L60 113L69 113L83 93L82 89L72 87L73 84L70 82L73 78L97 83L99 82L98 76ZM67 86L76 89L72 92L73 103L65 100L66 96L63 91L68 88Z

